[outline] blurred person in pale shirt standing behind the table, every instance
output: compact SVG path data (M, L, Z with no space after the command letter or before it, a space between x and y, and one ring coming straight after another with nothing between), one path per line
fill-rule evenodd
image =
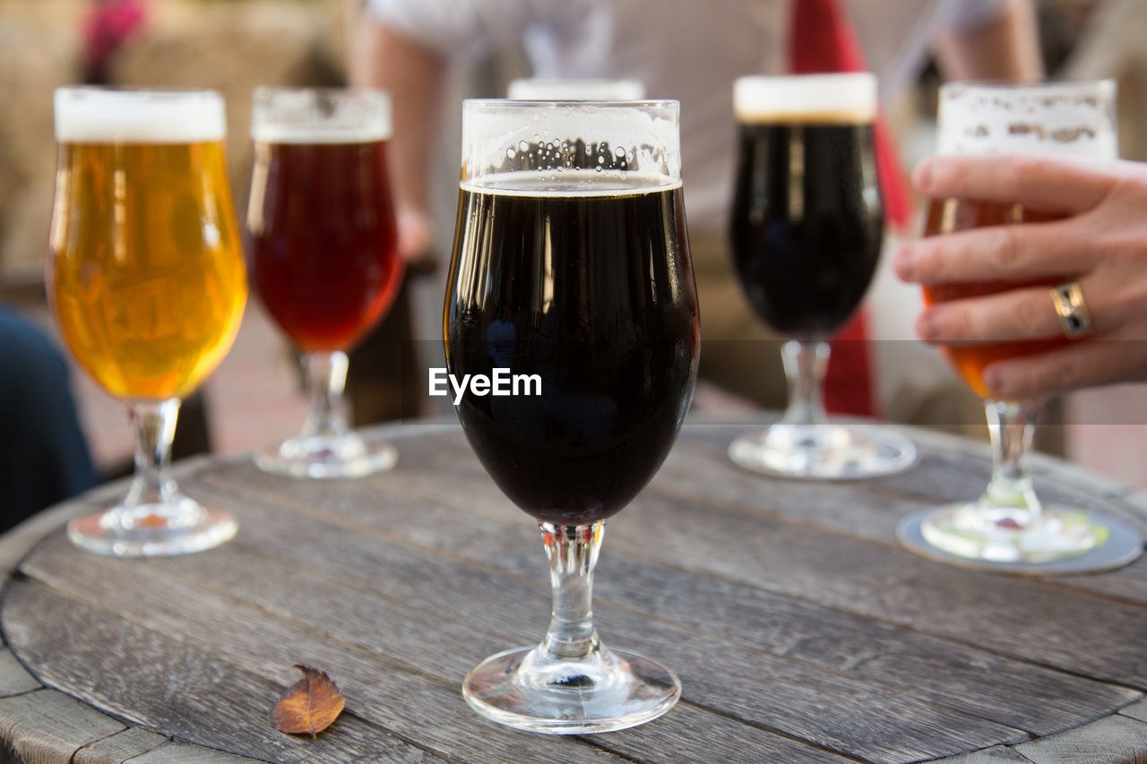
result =
M756 404L782 407L785 377L770 342L775 337L740 294L726 227L736 149L733 80L791 71L805 45L822 44L806 42L795 29L797 3L805 18L848 14L855 31L845 21L833 33L845 45L859 40L885 103L913 81L929 50L953 79L1031 81L1043 72L1030 0L367 0L352 45L351 80L387 89L393 99L400 248L412 256L432 240L429 167L439 149L452 67L521 49L535 77L643 81L650 98L681 102L686 205L703 315L701 375ZM891 311L907 338L919 302L914 291L902 291L874 310ZM894 349L894 358L880 364L888 380L877 410L905 421L981 421L980 403L942 360L929 358L937 373L921 380L920 364L903 358L916 352L908 349L915 343L875 344ZM936 356L928 349L923 354ZM830 366L830 385L832 380ZM943 390L935 389L937 380ZM965 402L958 410L950 405L955 398Z

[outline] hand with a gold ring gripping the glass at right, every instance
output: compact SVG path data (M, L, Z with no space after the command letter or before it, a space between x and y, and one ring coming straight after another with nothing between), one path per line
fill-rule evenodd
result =
M1084 164L1028 156L926 159L913 182L934 200L963 198L1064 216L992 226L903 245L894 267L905 281L1076 281L1091 314L1085 342L998 361L984 372L1001 398L1035 398L1078 388L1147 381L1147 165ZM1047 287L1023 287L934 304L916 333L936 344L1062 337Z

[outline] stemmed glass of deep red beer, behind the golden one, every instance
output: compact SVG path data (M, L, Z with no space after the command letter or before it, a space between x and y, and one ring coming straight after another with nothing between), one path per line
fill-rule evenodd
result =
M346 351L385 315L403 279L389 137L384 93L255 91L251 280L302 353L310 399L302 434L256 451L266 471L361 477L398 459L392 445L350 430L341 405Z

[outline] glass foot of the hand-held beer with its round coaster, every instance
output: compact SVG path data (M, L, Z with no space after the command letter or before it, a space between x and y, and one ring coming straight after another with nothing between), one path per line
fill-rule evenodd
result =
M998 572L1067 575L1111 570L1142 553L1142 537L1098 512L1044 507L1028 527L976 504L923 509L896 530L902 546L938 562Z

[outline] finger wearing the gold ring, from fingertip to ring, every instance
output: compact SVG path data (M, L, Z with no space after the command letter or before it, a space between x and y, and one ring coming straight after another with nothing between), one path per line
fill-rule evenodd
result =
M1063 336L1048 287L1012 289L926 307L916 319L924 342L986 343Z

